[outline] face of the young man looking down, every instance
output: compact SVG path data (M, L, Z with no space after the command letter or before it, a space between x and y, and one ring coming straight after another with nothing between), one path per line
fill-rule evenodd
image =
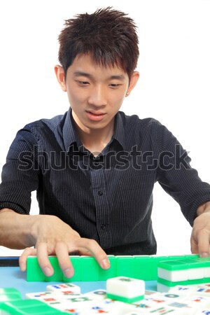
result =
M113 124L128 87L128 75L118 66L97 65L90 55L80 55L67 70L63 90L78 126L102 130Z

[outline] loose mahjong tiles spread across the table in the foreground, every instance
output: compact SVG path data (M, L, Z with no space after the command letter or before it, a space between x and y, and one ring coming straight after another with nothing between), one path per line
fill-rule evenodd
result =
M44 292L27 293L25 300L18 290L0 289L0 314L208 315L209 286L174 286L160 293L145 290L142 280L118 276L106 281L106 290L82 294L79 286L60 283L46 286Z

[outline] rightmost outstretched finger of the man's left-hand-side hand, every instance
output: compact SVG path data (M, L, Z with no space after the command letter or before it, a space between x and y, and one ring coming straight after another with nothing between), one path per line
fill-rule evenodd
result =
M83 251L84 249L92 253L94 258L97 260L97 262L103 269L109 269L110 267L109 258L107 257L102 247L99 246L97 241L94 241L94 239L81 238L80 241L78 242L78 250Z

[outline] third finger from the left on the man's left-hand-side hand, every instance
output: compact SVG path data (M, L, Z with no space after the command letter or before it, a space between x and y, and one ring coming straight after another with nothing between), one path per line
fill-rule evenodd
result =
M66 278L71 278L74 274L74 270L71 260L69 259L68 247L64 242L59 241L56 243L55 254L57 255L59 267L62 269L63 274Z

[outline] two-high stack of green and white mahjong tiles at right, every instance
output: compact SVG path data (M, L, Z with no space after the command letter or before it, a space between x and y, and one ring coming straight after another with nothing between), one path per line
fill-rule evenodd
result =
M177 285L210 282L210 258L188 258L158 263L158 290L167 292Z

